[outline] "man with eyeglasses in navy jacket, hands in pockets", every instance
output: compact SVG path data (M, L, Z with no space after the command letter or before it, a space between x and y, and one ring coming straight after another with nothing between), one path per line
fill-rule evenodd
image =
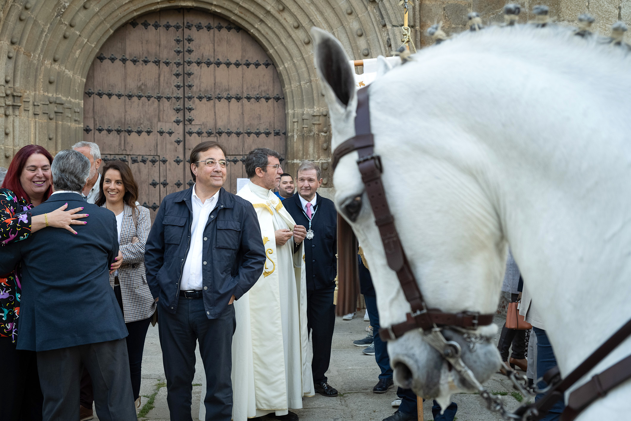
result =
M147 283L160 298L158 331L172 420L192 419L197 341L207 379L205 419L232 419L232 336L241 323L233 302L252 288L265 264L252 204L222 187L226 165L220 143L195 146L195 184L163 199L146 243Z

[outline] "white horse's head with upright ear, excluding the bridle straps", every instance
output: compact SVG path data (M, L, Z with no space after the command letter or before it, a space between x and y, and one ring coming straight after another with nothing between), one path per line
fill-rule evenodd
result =
M312 37L334 149L355 136L353 72L338 40L318 28L312 29ZM493 313L507 250L490 194L483 191L476 181L479 174L469 165L484 151L454 150L456 140L466 136L461 127L445 124L445 116L432 114L429 103L425 109L417 108L423 92L432 85L427 81L430 72L423 68L420 74L418 66L416 61L391 69L381 58L377 80L369 88L370 130L382 162L387 203L428 308ZM420 100L410 104L411 97ZM377 291L380 324L391 326L406 320L410 305L396 273L388 267L357 157L354 151L339 160L334 173L335 203L365 251ZM461 345L463 362L481 382L500 365L490 343L496 331L495 325L470 331L470 335L444 330L447 340ZM451 393L471 390L471 384L451 370L418 329L390 341L388 352L399 384L421 396L437 397L448 405Z

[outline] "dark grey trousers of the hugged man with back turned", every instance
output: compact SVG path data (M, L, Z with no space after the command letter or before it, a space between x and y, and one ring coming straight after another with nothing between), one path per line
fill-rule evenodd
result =
M37 352L44 421L79 419L81 367L90 372L101 421L136 419L124 339Z

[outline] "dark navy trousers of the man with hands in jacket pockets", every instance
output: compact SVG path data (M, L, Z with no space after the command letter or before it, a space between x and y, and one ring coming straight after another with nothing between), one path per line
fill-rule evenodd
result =
M206 421L232 418L232 335L237 327L233 305L208 319L203 299L180 298L172 314L158 304L158 332L167 377L167 403L172 420L192 421L191 395L195 346L206 373Z

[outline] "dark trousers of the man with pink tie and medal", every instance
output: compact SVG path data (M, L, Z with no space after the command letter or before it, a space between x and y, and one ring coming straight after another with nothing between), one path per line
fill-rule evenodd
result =
M311 371L314 382L327 381L324 373L331 361L331 342L335 328L335 305L333 288L307 291L307 331L311 336L313 359Z

